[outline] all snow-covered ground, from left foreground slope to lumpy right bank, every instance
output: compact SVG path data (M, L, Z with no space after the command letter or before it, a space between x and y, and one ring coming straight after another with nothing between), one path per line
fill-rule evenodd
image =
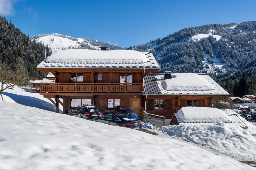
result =
M39 98L42 105L36 107L17 104L16 95L28 93L24 103L34 99L33 93L19 93L19 88L6 91L6 102L0 102L0 169L254 169L201 147L255 161L252 124L248 130L224 123L200 128L144 124L159 134L151 135L42 110L49 104Z

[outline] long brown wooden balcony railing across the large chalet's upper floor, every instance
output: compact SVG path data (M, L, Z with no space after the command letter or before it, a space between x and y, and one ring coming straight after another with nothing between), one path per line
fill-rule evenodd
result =
M143 83L41 83L41 93L142 93Z

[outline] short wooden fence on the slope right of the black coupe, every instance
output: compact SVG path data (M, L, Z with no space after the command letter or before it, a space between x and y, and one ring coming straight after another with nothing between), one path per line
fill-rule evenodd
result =
M155 114L150 114L145 111L142 111L142 121L144 123L150 123L157 127L164 126L164 116L159 116Z

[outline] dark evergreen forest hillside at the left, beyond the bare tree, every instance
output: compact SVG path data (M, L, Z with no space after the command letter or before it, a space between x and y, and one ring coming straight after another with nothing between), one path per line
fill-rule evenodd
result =
M25 66L28 68L29 76L42 79L47 73L37 70L37 65L41 63L46 56L52 54L48 46L36 41L30 41L29 35L26 36L15 27L12 22L0 16L0 61L8 64L15 70L17 58L22 58Z

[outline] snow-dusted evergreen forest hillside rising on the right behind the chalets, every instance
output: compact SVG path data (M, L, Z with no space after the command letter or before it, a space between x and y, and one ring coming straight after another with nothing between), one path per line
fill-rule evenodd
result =
M209 34L199 40L190 39L198 34ZM211 36L212 35L212 36ZM223 37L217 40L214 35ZM176 33L131 46L127 50L150 51L161 66L161 73L207 73L203 64L204 53L208 62L214 57L223 65L208 73L231 96L256 95L256 21L230 24L210 24L184 28Z

